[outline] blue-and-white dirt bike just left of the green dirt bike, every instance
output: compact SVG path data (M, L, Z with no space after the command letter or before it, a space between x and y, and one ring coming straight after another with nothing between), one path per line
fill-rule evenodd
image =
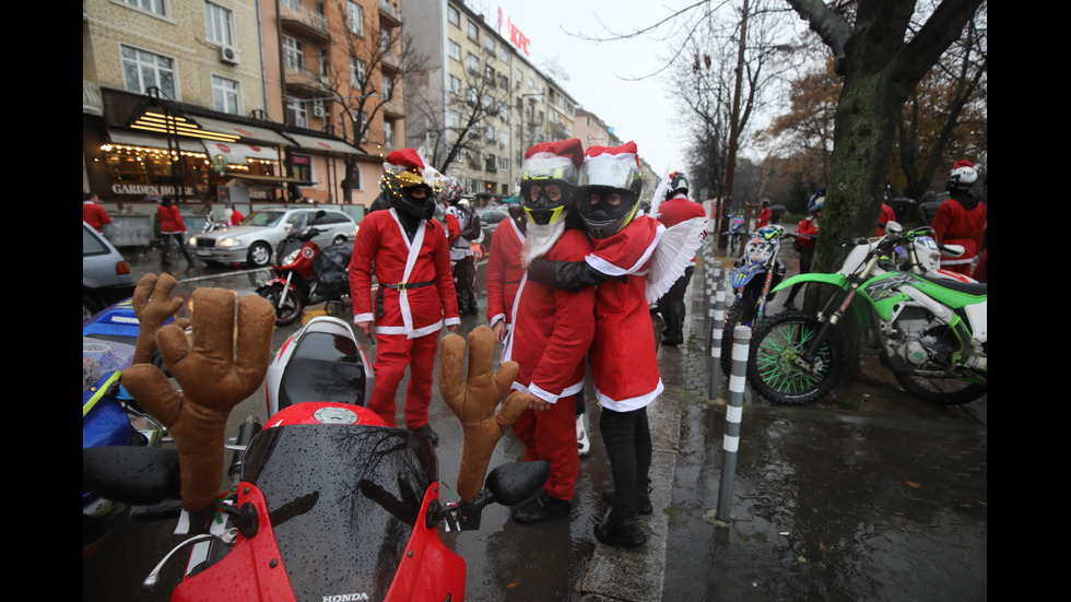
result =
M744 232L743 235L749 233ZM721 340L721 371L729 376L732 368L732 330L737 326L752 329L762 322L766 315L766 304L774 298L770 290L785 278L785 264L777 259L781 239L795 237L785 226L768 225L753 233L744 247L744 255L737 260L729 274L734 299L726 314Z

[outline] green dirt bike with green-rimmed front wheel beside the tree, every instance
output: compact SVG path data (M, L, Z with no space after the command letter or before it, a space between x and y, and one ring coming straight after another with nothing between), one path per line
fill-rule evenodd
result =
M829 392L844 369L836 328L849 308L874 328L884 366L907 392L939 405L958 405L986 394L986 285L899 271L890 258L927 228L904 232L891 222L876 241L860 239L840 270L801 274L801 282L840 290L817 316L787 311L767 318L754 333L748 377L774 403L810 403ZM858 303L859 298L868 302Z

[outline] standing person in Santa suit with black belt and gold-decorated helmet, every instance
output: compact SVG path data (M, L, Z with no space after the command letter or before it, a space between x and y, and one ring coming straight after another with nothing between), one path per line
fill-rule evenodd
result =
M395 394L409 365L405 426L436 442L427 409L438 332L444 324L456 331L461 320L446 232L432 219L432 172L412 149L387 155L380 187L390 210L361 222L350 260L350 293L354 323L378 343L368 409L396 425ZM375 295L373 267L379 281Z

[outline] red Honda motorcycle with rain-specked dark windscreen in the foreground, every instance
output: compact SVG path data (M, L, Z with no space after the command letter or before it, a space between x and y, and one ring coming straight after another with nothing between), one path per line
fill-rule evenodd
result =
M337 354L354 355L352 334L337 330L348 324L326 322L310 322L272 362L279 374L267 387L280 409L259 432L250 422L239 430L240 482L219 505L219 527L173 550L146 586L173 554L193 544L173 600L460 601L464 560L438 530L479 529L489 504L516 505L542 486L549 464L516 462L491 471L472 503L444 503L432 442L386 426L364 408L366 385L352 374L336 380L351 385L345 402L284 402L297 391L319 394L311 381L330 370ZM83 481L131 503L177 495L175 453L163 451L170 457L83 451Z

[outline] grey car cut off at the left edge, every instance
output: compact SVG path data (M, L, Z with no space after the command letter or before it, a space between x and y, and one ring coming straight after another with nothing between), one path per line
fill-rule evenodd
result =
M82 222L82 321L133 294L130 264L93 226Z

